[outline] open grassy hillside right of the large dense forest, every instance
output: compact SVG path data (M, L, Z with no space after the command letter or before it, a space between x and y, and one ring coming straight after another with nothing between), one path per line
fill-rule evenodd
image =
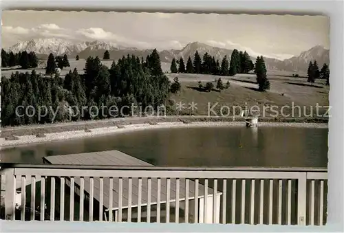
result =
M240 106L248 107L253 105L259 106L277 106L279 109L283 106L300 106L301 115L310 113L312 107L313 114L316 114L316 104L319 106L328 106L328 93L330 87L325 86L325 80L317 80L314 85L310 85L305 78L281 77L277 78L272 75L270 78L270 90L265 93L257 91L257 84L255 75L246 74L235 77L200 75L200 74L168 74L170 79L178 76L182 89L179 93L173 94L172 100L175 103L183 102L185 107L189 107L191 102L197 103L197 111L193 112L195 115L204 115L208 113L208 103L213 106L217 104L219 107L226 105L229 107ZM214 89L211 92L205 92L198 88L198 81L205 86L206 82L213 82L216 87L217 82L215 78L221 78L224 85L227 81L230 82L230 87L222 91ZM308 109L303 113L303 108ZM327 108L321 108L319 113L323 114ZM190 113L189 109L184 109L184 113ZM268 113L269 111L266 111ZM283 110L283 113L291 113L290 109ZM297 113L297 110L294 111ZM295 115L296 117L299 115ZM315 116L314 116L315 117Z

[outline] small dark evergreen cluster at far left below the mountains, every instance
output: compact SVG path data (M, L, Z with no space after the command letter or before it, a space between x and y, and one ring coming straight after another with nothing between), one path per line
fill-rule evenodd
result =
M14 54L1 49L1 67L14 67L20 65L21 69L36 68L39 65L39 58L34 52L19 52Z

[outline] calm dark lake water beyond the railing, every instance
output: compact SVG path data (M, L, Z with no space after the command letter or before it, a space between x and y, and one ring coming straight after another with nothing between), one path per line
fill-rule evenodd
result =
M327 166L328 129L238 127L154 129L17 146L2 162L42 164L42 157L119 150L156 166Z

